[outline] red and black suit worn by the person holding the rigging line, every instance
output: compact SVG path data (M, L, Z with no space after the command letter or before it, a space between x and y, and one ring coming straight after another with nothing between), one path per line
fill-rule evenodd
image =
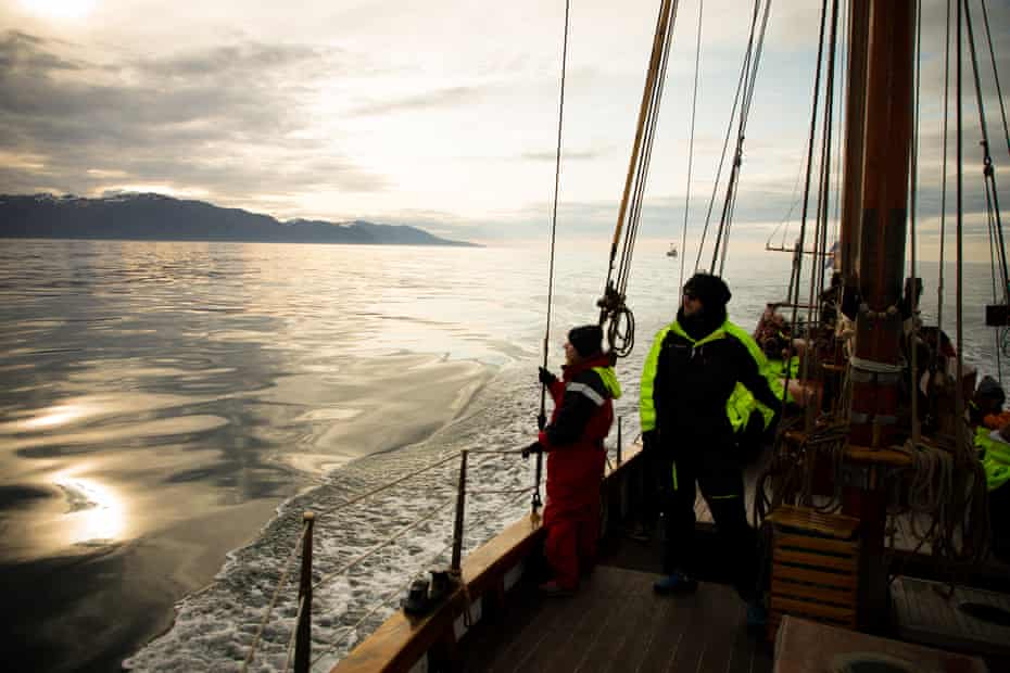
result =
M620 388L606 355L565 367L551 386L554 414L540 433L547 452L547 504L544 553L561 588L579 584L592 568L599 535L599 483L606 453L603 441L614 422L613 398Z

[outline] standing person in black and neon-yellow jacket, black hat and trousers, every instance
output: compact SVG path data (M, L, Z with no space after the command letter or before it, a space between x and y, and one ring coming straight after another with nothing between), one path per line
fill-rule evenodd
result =
M758 625L763 610L756 600L757 536L747 523L736 431L752 422L749 412L744 417L750 408L747 396L758 414L756 403L762 405L769 423L781 402L754 339L727 318L731 296L718 276L693 276L677 319L656 334L642 371L643 441L661 466L666 529L664 576L654 588L681 594L697 587L690 574L697 485L723 547L735 559L734 583L748 601L748 622ZM763 415L755 418L765 423Z

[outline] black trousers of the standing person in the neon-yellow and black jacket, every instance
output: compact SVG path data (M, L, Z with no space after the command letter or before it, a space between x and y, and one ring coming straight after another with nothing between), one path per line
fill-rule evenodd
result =
M694 501L700 488L716 522L718 553L723 555L720 560L728 561L723 564L731 568L732 582L741 598L754 598L759 570L758 539L747 523L743 470L733 465L705 465L687 459L667 459L660 470L664 572L697 568Z

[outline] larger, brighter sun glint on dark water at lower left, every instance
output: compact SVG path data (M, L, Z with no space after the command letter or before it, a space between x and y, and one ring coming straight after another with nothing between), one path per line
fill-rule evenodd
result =
M66 493L67 543L112 542L126 529L126 507L115 491L93 479L61 475L54 483Z

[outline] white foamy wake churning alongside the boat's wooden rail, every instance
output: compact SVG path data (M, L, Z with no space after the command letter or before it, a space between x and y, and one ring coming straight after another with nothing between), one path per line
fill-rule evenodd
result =
M321 581L313 597L314 670L328 670L399 608L412 579L447 564L458 461L450 460L361 504L337 508L463 448L515 449L529 442L535 411L531 401L536 399L530 378L525 369L506 368L460 418L427 441L357 460L325 485L286 503L255 543L229 555L213 585L178 605L173 628L124 665L136 671L239 670L287 569L288 581L250 666L283 670L298 609L299 562L291 550L301 512L311 509L317 512L314 582ZM516 454L471 455L465 549L476 548L526 513L531 484L532 461ZM421 519L428 521L348 572L337 572Z

